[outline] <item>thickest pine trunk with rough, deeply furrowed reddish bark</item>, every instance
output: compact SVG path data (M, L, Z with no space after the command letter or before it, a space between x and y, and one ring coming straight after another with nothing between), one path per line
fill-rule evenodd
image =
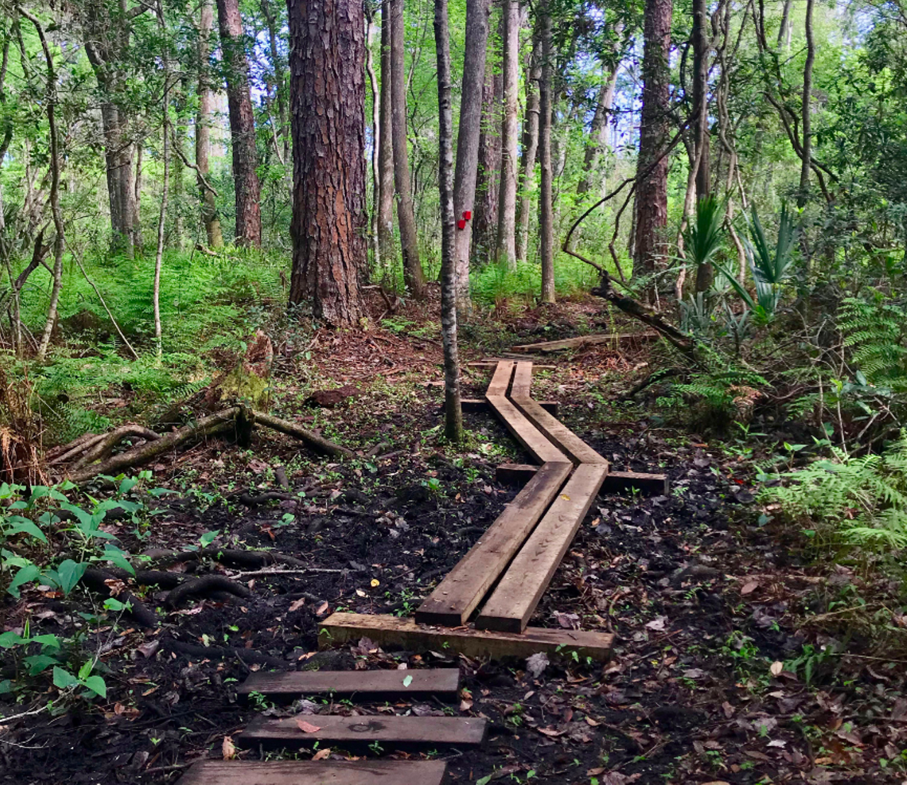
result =
M362 0L289 0L293 130L290 304L339 326L362 315L366 80Z

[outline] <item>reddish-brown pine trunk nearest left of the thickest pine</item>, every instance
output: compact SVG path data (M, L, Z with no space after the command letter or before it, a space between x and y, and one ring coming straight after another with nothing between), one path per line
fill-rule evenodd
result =
M220 48L227 71L229 131L233 146L233 182L236 184L236 241L261 245L261 192L258 153L255 149L255 115L249 97L249 65L239 15L239 0L218 0Z

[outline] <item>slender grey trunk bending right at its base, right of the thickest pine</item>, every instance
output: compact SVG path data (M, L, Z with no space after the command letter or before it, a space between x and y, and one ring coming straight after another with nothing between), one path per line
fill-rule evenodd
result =
M414 299L425 297L425 276L419 260L419 238L415 231L413 184L406 152L406 68L403 0L391 5L391 133L394 141L394 182L397 192L397 223L403 251L403 277Z

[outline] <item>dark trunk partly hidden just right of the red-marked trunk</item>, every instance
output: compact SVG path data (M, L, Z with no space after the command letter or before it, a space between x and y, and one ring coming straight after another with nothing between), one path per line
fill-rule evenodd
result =
M475 182L473 215L473 266L488 264L494 258L498 226L498 171L501 167L502 74L498 73L497 51L487 64L482 91L482 132L479 135L479 168Z

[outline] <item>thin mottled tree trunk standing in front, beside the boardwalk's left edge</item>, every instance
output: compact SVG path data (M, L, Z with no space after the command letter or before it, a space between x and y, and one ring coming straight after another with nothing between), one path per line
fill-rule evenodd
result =
M456 335L456 268L453 244L453 113L451 111L451 53L447 0L434 0L434 45L438 61L438 191L441 195L441 338L444 344L444 436L463 441L460 406L460 360Z

